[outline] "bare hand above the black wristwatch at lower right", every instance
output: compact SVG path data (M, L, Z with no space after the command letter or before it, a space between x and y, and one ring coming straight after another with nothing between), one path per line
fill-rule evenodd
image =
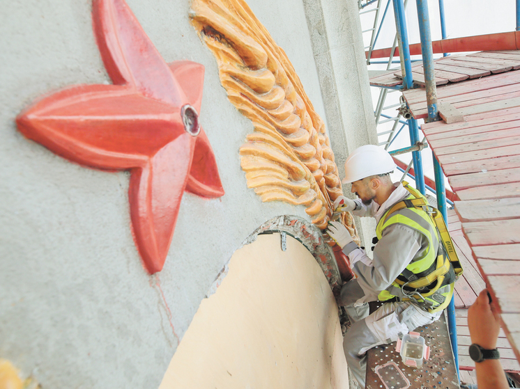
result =
M472 343L488 350L496 348L500 315L489 303L487 289L480 292L477 301L468 309L468 327Z

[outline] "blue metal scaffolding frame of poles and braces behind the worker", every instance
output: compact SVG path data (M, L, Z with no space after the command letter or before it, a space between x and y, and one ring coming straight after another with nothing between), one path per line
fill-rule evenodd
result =
M358 5L360 9L369 6L374 3L376 0L358 0ZM377 0L378 10L376 11L376 15L379 13L379 8L381 8L381 0ZM445 176L443 170L441 169L438 160L432 152L432 159L434 161L434 178L435 178L435 187L432 188L429 185L425 185L425 176L422 169L422 159L420 150L427 147L427 143L425 143L426 139L423 138L422 141L419 141L419 127L417 120L413 118L406 117L406 121L402 120L402 116L406 115L407 107L406 104L402 101L402 104L392 104L390 106L385 106L386 97L388 97L389 93L407 90L414 88L413 85L413 77L411 70L411 54L409 49L408 42L408 32L406 29L406 18L405 18L405 8L408 0L391 0L394 8L395 15L395 26L396 26L396 35L394 39L394 44L392 45L392 49L390 50L390 56L388 56L388 61L371 61L372 51L374 51L374 46L376 45L379 33L381 32L381 27L383 22L385 21L385 17L387 16L387 11L390 6L390 0L387 0L385 11L383 13L383 17L381 21L378 22L378 17L374 19L374 28L372 31L372 37L369 45L369 51L367 51L367 65L371 63L386 63L387 70L390 70L392 63L400 63L401 71L403 75L403 83L402 86L397 86L393 88L380 88L380 93L378 97L378 102L376 104L376 109L374 110L374 116L376 121L376 126L380 126L386 122L394 121L392 125L392 129L390 131L378 132L378 137L381 135L387 135L388 139L379 143L380 146L384 146L385 150L390 148L393 141L402 134L402 129L405 126L408 127L408 132L410 136L411 145L407 148L402 148L399 150L390 151L390 154L404 154L407 152L412 152L412 161L408 164L407 168L404 169L398 166L398 169L404 173L402 176L402 180L408 175L409 177L415 180L416 188L422 193L425 194L426 190L431 191L436 195L437 198L437 207L443 214L443 218L445 222L448 223L448 215L447 215L447 203L452 205L453 203L446 198L446 189L445 189ZM520 31L520 0L516 0L516 31ZM417 12L418 12L418 22L419 22L419 32L420 32L420 47L421 47L421 59L418 61L422 61L422 65L425 72L425 84L426 84L426 95L427 95L427 106L428 106L428 118L427 122L440 120L438 117L438 109L437 109L437 97L436 97L436 83L435 83L435 72L434 72L434 56L431 45L431 29L429 22L429 13L428 13L428 3L427 0L416 0L417 4ZM447 39L446 27L445 27L445 13L444 13L444 0L438 0L439 7L439 16L441 23L441 35L442 39ZM366 11L365 11L366 12ZM378 25L378 28L377 28ZM396 47L399 47L399 61L394 60L394 54ZM443 53L443 56L449 56L449 53ZM396 116L390 116L383 111L385 109L395 108L395 106L399 106L399 111ZM384 120L381 120L385 118ZM399 127L399 124L402 126ZM409 173L409 170L413 166L414 175ZM450 302L450 305L447 308L448 312L448 328L450 331L450 340L452 343L452 349L455 359L455 364L457 368L457 374L459 374L459 358L457 353L457 329L455 324L455 312L454 312L454 299Z

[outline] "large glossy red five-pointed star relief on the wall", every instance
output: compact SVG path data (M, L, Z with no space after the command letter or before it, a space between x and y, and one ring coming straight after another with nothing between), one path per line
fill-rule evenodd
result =
M160 271L184 191L224 195L199 125L204 66L167 64L123 0L93 0L93 29L114 85L78 85L17 117L27 138L78 164L130 170L132 230L148 273Z

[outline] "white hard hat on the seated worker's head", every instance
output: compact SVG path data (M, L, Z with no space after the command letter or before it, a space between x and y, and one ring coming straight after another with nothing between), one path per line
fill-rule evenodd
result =
M374 145L355 149L345 161L344 184L362 180L376 174L390 173L396 164L388 151Z

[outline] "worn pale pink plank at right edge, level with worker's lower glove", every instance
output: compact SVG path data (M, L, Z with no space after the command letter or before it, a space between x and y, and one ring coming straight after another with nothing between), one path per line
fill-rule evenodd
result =
M472 247L520 243L520 219L462 223L462 230Z

